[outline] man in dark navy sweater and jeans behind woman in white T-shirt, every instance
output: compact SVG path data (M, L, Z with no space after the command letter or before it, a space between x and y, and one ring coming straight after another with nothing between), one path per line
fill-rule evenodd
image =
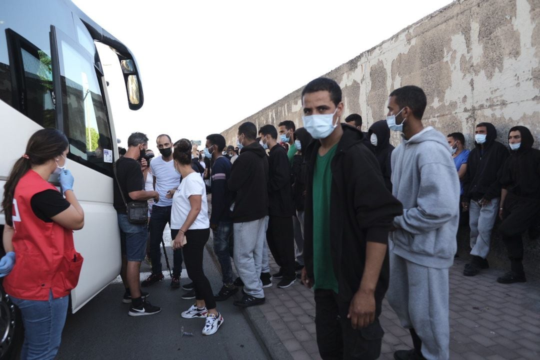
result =
M233 230L231 220L231 194L227 181L231 177L231 161L223 156L225 138L220 134L211 134L206 137L204 153L211 158L212 166L212 215L210 228L214 235L214 253L221 266L223 286L214 296L215 301L224 301L234 295L238 288L233 285L233 268L231 265L231 244L229 242Z

